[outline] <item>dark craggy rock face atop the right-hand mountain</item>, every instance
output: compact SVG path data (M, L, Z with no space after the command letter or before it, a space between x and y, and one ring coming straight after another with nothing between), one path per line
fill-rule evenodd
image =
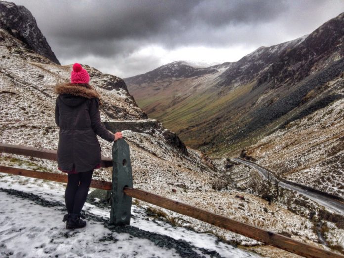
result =
M255 87L271 81L275 87L297 83L342 59L343 24L344 13L341 13L308 35L300 44L282 52Z

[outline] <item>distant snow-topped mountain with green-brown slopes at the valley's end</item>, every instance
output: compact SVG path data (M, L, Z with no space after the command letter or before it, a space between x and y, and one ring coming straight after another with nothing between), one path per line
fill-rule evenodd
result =
M212 139L218 138L219 132L214 136L206 132L213 130L214 124L216 129L226 126L228 120L219 120L229 114L233 116L233 102L239 99L240 105L250 105L247 102L256 92L245 95L250 93L257 78L283 51L296 47L305 38L260 47L237 62L197 68L185 61L176 61L124 80L146 113L176 131L187 145L195 148L206 145L203 150L210 152L207 145L212 145ZM243 101L240 97L244 97Z

